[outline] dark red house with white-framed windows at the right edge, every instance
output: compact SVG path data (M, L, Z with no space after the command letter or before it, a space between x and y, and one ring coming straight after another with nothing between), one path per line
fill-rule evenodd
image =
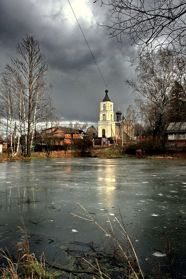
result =
M167 146L186 147L186 122L171 122L165 132Z

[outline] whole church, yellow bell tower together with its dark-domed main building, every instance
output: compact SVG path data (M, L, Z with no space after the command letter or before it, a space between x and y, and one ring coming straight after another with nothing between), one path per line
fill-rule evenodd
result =
M122 112L118 110L116 112L116 121L114 120L113 102L108 97L108 90L105 90L105 97L100 102L100 120L98 121L98 138L122 139L123 130L123 142L129 142L133 140L134 128L132 121L127 121ZM122 128L123 122L123 128Z

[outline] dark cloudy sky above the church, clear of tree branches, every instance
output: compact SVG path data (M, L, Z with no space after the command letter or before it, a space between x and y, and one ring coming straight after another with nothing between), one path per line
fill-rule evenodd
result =
M114 111L120 106L125 114L135 94L123 81L135 78L135 69L124 59L134 58L137 50L128 38L122 44L108 39L107 28L97 24L111 19L107 6L93 0L69 1L108 85ZM1 0L0 26L0 72L17 56L15 47L25 34L32 35L46 56L59 118L97 123L106 88L68 0Z

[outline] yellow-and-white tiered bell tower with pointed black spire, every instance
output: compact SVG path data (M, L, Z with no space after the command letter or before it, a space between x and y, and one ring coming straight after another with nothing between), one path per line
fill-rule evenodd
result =
M105 90L105 97L100 102L100 120L98 121L98 137L112 138L115 137L115 121L113 102L108 97L108 90Z

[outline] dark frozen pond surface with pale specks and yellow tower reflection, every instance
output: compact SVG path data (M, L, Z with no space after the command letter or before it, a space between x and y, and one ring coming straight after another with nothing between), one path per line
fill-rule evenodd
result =
M99 243L107 236L70 214L86 217L81 204L104 228L109 227L107 216L116 225L119 212L129 234L138 228L135 241L143 243L137 254L144 268L165 228L170 239L180 243L177 256L183 271L185 191L185 160L60 158L1 163L0 248L13 251L12 242L20 237L17 227L24 223L31 235L38 220L31 248L38 255L44 251L48 261L70 242Z

